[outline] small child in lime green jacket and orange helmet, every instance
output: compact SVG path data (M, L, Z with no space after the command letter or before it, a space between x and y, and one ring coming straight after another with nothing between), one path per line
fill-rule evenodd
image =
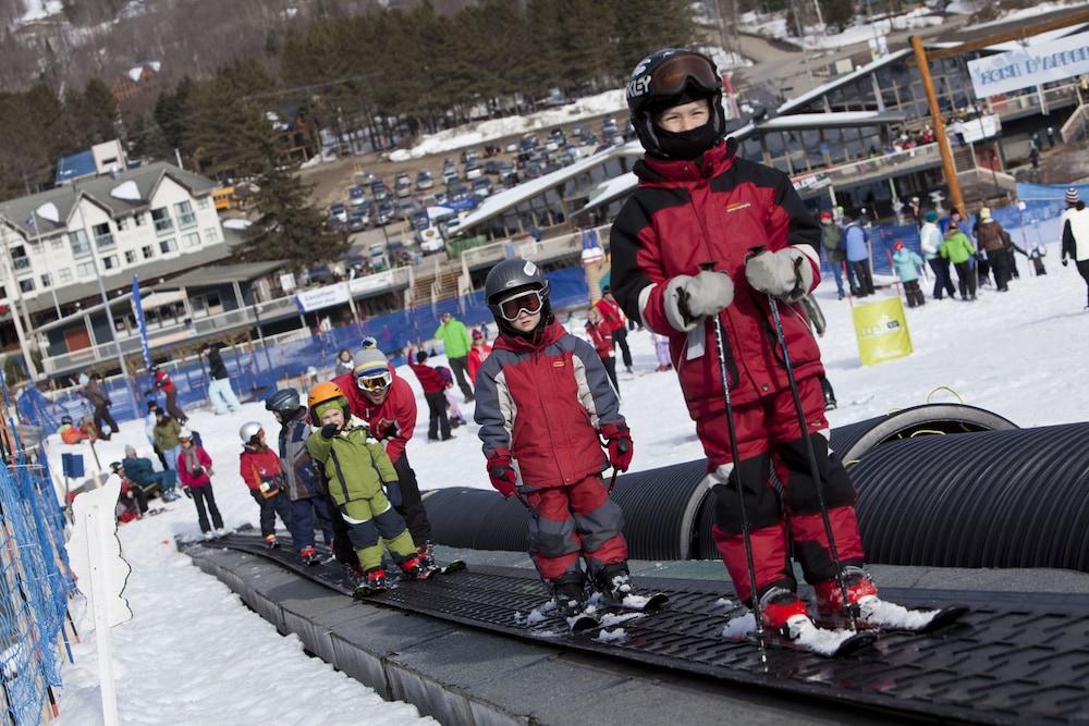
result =
M412 579L426 579L416 545L404 519L387 499L397 497L397 472L386 447L370 436L366 422L348 413L347 398L332 382L310 389L310 420L320 430L306 440L310 457L321 467L332 496L348 526L348 539L366 574L353 592L363 598L386 589L382 542Z

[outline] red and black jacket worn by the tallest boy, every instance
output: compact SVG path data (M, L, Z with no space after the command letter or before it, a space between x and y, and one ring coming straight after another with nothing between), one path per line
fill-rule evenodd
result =
M738 158L733 139L697 161L646 159L635 165L639 186L610 234L612 292L624 311L670 339L688 411L695 419L724 408L713 327L674 330L664 291L676 275L696 275L706 262L734 283L733 303L720 313L726 339L732 403L754 403L788 387L767 296L749 287L745 260L754 248L804 251L820 280L820 226L783 172ZM810 287L810 290L812 290ZM823 372L820 350L796 305L780 303L783 331L797 377ZM697 331L700 329L697 328ZM689 352L702 337L703 354ZM696 346L698 347L698 346Z

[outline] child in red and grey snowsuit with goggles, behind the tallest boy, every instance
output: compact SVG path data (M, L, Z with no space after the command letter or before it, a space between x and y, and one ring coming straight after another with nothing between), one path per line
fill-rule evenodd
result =
M500 334L477 373L476 422L491 484L531 510L529 554L571 617L585 607L587 578L613 600L631 593L624 516L601 471L625 471L633 447L604 366L553 319L548 294L533 262L504 260L488 273Z

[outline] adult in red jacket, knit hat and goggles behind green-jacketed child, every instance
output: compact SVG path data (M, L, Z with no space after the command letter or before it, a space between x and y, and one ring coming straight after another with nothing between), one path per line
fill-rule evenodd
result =
M431 522L427 519L416 472L406 451L416 429L416 396L378 348L357 352L354 361L352 374L341 376L333 383L344 392L352 416L366 421L371 435L384 443L386 453L397 472L400 501L393 501L393 506L404 517L424 567L432 569L436 565L431 552Z

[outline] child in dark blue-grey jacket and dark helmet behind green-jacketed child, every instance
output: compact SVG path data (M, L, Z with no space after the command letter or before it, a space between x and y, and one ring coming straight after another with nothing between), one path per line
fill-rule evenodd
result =
M333 546L332 502L321 471L306 450L310 435L306 406L299 405L297 391L280 389L268 397L265 407L280 422L280 463L291 510L287 521L291 541L304 563L316 565L320 557L314 549L315 525L321 530L326 545Z

